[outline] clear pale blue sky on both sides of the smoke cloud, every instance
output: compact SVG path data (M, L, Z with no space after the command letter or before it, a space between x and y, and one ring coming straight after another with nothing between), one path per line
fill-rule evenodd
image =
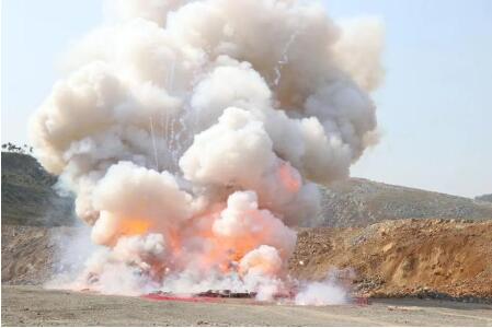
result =
M306 1L307 2L307 1ZM100 0L1 2L1 139L28 143L30 115L64 52L103 20ZM492 192L492 1L324 0L335 20L386 26L381 140L352 176L445 194Z

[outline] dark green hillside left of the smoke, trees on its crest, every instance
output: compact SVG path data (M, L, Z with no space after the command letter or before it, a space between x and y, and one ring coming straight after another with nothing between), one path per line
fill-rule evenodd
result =
M70 225L73 201L59 196L57 178L27 154L2 152L2 224Z

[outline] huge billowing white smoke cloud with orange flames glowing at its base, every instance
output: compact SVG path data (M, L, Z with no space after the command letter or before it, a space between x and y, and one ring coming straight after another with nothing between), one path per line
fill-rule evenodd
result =
M287 289L288 226L375 142L382 28L291 0L112 1L32 118L105 293ZM299 296L301 297L301 296Z

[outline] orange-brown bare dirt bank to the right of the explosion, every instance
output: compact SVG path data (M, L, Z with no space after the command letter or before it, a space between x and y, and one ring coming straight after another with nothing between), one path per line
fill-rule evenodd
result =
M299 278L353 269L365 295L492 298L492 221L398 220L298 236L289 265Z

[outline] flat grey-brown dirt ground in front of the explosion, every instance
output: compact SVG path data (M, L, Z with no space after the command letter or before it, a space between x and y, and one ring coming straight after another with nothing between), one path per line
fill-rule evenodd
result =
M368 306L291 306L151 301L39 286L2 286L2 326L492 326L492 305L375 301Z

